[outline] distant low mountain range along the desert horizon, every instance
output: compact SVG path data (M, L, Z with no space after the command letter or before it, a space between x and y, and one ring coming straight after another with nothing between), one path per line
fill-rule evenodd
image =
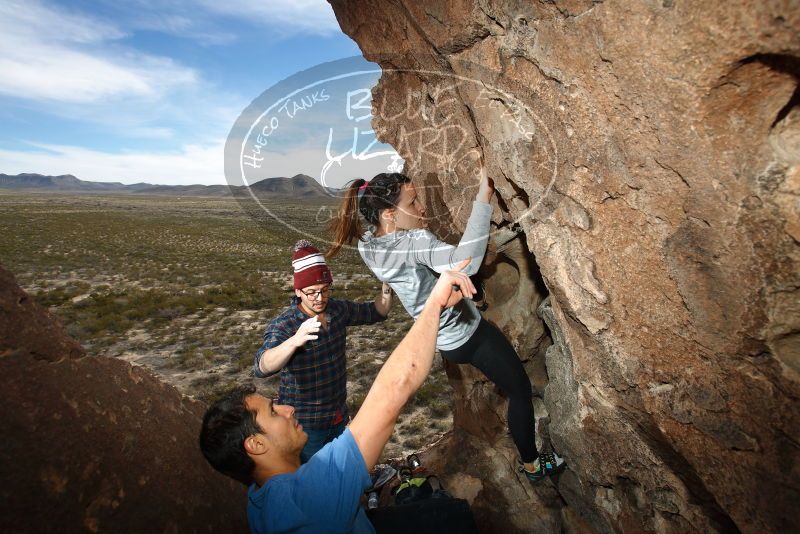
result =
M119 182L90 182L80 180L71 174L44 176L41 174L0 174L0 189L38 190L52 192L83 193L132 193L140 195L231 197L249 195L244 186L228 185L155 185L121 184ZM323 198L336 195L338 189L323 187L305 174L291 178L266 178L250 186L250 191L258 197Z

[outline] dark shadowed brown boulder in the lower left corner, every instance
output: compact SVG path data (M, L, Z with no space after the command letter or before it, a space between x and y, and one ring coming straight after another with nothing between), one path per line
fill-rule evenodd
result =
M204 406L84 356L2 267L0 384L0 531L247 531L244 486L198 449Z

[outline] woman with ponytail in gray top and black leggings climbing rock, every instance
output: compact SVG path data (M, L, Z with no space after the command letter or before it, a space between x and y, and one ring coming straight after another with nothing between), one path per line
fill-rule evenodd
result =
M458 246L440 241L425 228L425 208L411 180L400 173L381 173L370 182L354 180L334 220L334 242L328 256L358 240L358 251L375 276L391 286L406 311L416 318L439 273L471 258L464 272L480 268L489 240L494 186L484 171L464 235ZM362 231L359 213L372 228ZM530 380L511 343L481 317L475 304L462 300L442 313L436 346L446 360L471 364L508 395L508 426L519 451L520 469L539 481L560 472L564 460L536 449Z

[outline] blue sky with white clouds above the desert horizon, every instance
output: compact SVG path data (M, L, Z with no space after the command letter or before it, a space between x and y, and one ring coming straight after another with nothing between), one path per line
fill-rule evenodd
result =
M225 139L242 111L281 80L352 56L324 0L3 0L0 172L225 183ZM309 132L340 120L316 119ZM318 174L304 162L324 146L295 123L272 175Z

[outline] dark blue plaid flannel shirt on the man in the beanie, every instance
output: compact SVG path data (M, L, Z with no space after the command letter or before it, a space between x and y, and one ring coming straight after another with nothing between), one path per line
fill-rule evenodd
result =
M255 375L264 378L259 363L265 350L277 347L295 333L308 319L294 297L292 304L273 319L264 332L264 343L255 356ZM318 338L307 341L292 354L280 370L278 403L295 409L295 417L304 428L330 428L337 411L347 420L347 362L345 345L347 327L373 324L385 319L373 302L358 303L330 299L325 309L328 328L320 328ZM276 371L277 372L277 371Z

